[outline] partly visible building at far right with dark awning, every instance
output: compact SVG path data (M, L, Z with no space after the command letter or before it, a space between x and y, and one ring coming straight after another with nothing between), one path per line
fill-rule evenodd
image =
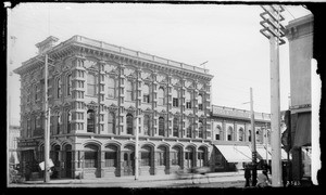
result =
M311 60L313 15L286 26L290 52L291 144L293 180L311 177Z

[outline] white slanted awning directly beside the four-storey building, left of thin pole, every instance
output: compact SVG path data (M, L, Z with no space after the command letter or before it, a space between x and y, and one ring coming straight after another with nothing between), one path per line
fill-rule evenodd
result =
M218 151L223 154L224 158L228 162L239 162L239 161L251 161L250 155L248 155L248 151L242 147L248 146L235 146L235 145L215 145ZM249 152L250 148L248 147Z

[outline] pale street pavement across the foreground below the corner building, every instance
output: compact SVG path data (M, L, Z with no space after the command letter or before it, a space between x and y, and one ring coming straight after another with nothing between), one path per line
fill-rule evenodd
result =
M26 181L21 184L9 184L9 187L242 187L244 186L243 171L237 172L212 172L188 176L178 179L175 174L165 176L139 176L97 178L97 179L52 179L49 183L43 181Z

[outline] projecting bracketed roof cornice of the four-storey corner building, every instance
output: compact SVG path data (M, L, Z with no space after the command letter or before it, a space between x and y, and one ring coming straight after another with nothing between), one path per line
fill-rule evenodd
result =
M123 47L117 47L114 44L109 44L102 41L92 40L82 36L74 36L71 39L53 47L46 53L49 57L57 61L63 58L70 54L74 53L91 53L92 55L98 55L100 58L111 58L115 62L121 62L120 64L127 63L134 65L140 65L143 67L154 66L158 70L181 74L189 77L197 77L198 79L210 81L213 75L209 75L209 70L184 63L178 63L175 61L166 60L155 55L142 53L139 51L129 50ZM24 62L23 65L14 70L14 73L22 75L36 66L41 66L40 57L43 54L37 55Z

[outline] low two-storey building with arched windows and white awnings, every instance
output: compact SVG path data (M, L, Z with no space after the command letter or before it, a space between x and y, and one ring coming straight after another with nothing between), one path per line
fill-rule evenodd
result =
M225 106L212 106L211 166L214 171L243 169L252 161L250 112ZM271 115L254 113L258 162L271 164ZM285 151L281 158L286 159Z

